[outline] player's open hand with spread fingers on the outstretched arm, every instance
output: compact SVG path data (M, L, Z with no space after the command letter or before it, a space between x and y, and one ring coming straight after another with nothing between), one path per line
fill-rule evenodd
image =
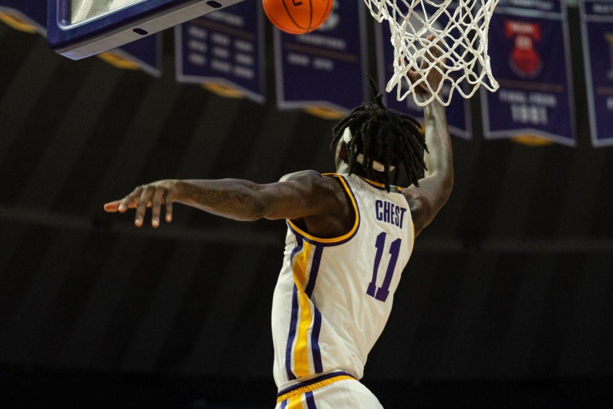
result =
M137 227L143 225L147 207L151 207L151 226L159 227L159 216L162 205L166 209L166 221L172 221L172 202L178 197L177 180L160 180L135 188L132 193L121 200L109 202L104 205L104 210L109 213L125 213L129 208L136 209L134 224Z

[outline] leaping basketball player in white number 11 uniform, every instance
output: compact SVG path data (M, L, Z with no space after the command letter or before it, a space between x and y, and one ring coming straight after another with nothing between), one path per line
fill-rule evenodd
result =
M441 77L432 70L428 80L436 89ZM107 212L135 208L139 227L147 207L153 227L162 205L170 222L174 202L234 220L287 220L272 307L277 409L381 408L358 380L389 317L414 239L451 194L443 105L425 107L424 138L413 118L386 109L370 82L375 101L333 129L335 174L304 170L267 185L162 180L105 205ZM406 189L396 186L401 165L411 185Z

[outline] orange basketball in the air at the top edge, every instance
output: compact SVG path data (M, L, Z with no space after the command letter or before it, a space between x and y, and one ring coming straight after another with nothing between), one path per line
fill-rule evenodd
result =
M289 34L307 34L326 21L333 0L262 0L273 25Z

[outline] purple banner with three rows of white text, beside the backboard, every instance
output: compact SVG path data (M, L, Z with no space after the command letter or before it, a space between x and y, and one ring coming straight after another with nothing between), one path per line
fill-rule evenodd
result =
M264 102L262 5L244 1L175 27L177 81Z

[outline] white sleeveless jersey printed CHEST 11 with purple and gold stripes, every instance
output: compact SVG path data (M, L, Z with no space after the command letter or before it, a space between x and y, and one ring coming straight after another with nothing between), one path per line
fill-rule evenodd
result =
M280 391L335 371L362 378L413 251L413 220L400 188L387 193L356 175L327 176L345 187L356 220L336 239L318 239L287 221L272 305Z

